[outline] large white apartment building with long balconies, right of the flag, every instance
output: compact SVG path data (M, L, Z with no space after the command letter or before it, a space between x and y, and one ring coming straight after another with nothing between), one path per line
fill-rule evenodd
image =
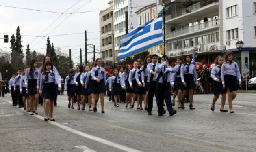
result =
M162 0L158 0L161 4ZM226 51L245 72L256 61L256 0L166 0L166 50L171 59L197 53L211 63ZM237 41L243 41L241 49Z

